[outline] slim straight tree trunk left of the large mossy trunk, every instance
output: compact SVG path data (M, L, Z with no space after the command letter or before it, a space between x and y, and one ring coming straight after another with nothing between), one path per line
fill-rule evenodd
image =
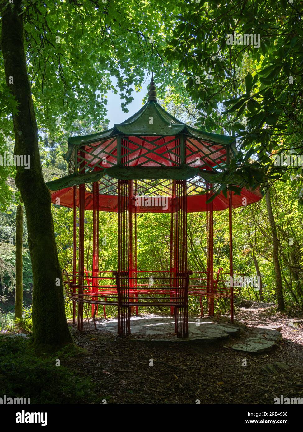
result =
M15 289L15 320L19 318L22 320L22 306L23 306L23 206L19 203L16 214L16 289Z

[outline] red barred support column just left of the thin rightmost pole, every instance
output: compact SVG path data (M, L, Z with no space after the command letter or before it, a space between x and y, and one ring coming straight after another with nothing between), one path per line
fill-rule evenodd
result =
M206 200L209 200L213 192L211 191L212 185L207 182ZM206 270L207 270L207 292L212 294L214 292L214 211L213 201L206 203ZM207 296L207 310L208 316L214 316L214 297Z

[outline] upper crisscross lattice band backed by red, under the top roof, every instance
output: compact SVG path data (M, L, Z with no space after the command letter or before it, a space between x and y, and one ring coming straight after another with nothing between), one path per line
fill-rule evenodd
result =
M226 161L226 146L222 144L185 137L185 149L182 149L182 140L182 136L123 136L121 144L119 137L112 137L81 147L76 146L74 155L70 158L70 172L77 172L77 167L82 163L88 172L94 168L111 168L119 163L125 166L171 167L185 162L190 166L206 168ZM127 162L125 158L124 162L121 160L123 155L127 156Z

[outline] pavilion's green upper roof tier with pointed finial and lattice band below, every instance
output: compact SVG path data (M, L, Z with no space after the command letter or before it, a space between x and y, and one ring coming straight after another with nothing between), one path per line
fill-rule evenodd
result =
M83 182L83 174L89 181L92 171L102 171L99 178L188 179L224 165L236 153L234 137L203 132L165 111L156 102L153 76L148 95L139 111L111 129L68 138L64 158L76 176L73 184ZM144 175L141 167L147 168Z

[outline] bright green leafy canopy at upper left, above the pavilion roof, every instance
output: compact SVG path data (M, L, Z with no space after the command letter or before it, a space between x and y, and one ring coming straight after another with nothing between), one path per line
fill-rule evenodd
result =
M109 90L120 92L122 109L128 112L147 67L153 67L163 88L169 83L152 56L153 46L156 51L165 47L163 32L175 22L175 16L163 15L161 1L84 2L77 11L73 3L48 0L23 6L35 114L39 129L51 136L76 130L75 121L86 121L96 132L105 119ZM14 108L7 94L3 90L3 116Z

